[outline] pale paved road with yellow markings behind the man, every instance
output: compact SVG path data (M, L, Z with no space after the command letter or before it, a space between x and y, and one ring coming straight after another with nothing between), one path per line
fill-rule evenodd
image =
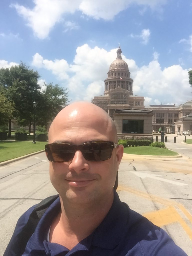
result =
M186 146L174 144L178 148ZM190 156L158 159L124 154L117 189L122 201L165 229L188 256L192 256ZM0 167L0 255L20 215L57 193L49 181L48 165L45 154L40 153Z

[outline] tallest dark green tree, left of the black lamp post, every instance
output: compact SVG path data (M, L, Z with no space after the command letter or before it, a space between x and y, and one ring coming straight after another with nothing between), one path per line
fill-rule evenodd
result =
M31 125L33 121L33 101L40 99L40 86L37 71L30 69L23 62L20 65L0 69L0 86L4 88L4 96L15 103L14 117L19 124ZM10 136L10 120L9 134Z

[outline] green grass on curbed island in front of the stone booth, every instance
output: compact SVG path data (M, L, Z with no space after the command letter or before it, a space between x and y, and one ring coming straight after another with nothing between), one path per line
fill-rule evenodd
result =
M176 156L178 153L160 148L160 147L151 147L151 146L140 146L140 147L126 147L124 148L124 153L135 154L135 155L153 155L153 156Z

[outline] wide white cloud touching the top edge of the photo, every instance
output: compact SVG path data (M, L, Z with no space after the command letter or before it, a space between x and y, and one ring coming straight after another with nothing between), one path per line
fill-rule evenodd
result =
M94 19L111 20L115 15L130 5L149 7L161 10L166 0L33 0L34 7L27 8L19 4L11 4L17 13L26 20L27 26L32 28L34 35L40 39L48 37L50 30L56 23L62 22L63 16L80 11L82 16ZM76 25L77 26L77 25ZM74 26L73 26L74 27ZM66 28L67 29L67 28Z

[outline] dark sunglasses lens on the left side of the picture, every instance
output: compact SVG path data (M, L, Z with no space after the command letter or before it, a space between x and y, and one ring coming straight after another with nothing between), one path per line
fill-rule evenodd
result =
M63 163L70 161L74 156L73 146L70 144L48 144L45 147L47 158L51 162Z

